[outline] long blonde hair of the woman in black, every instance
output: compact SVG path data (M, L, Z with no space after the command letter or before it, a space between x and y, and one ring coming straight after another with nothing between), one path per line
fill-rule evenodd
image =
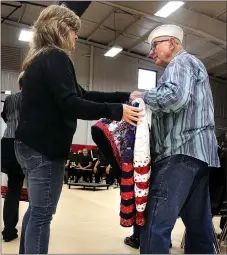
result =
M22 69L25 70L36 56L49 49L73 49L75 41L70 32L78 33L80 26L80 18L67 7L50 5L45 8L32 27L33 39Z

